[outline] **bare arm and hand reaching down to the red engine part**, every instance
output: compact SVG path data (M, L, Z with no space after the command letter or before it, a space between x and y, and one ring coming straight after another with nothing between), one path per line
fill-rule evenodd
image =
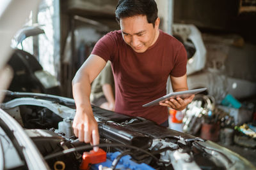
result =
M79 141L92 145L99 144L99 132L90 104L91 83L105 65L104 59L97 55L90 55L72 80L73 97L76 103L76 116L72 125L74 134Z

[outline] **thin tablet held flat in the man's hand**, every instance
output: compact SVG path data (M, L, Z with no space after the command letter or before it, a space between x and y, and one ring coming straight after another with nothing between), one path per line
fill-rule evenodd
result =
M160 102L164 102L169 99L175 99L177 97L185 99L193 94L198 94L200 92L204 92L206 89L207 88L201 88L201 89L186 90L186 91L181 91L181 92L171 92L170 94L166 94L166 96L160 97L154 101L151 101L150 103L144 104L143 107L156 106Z

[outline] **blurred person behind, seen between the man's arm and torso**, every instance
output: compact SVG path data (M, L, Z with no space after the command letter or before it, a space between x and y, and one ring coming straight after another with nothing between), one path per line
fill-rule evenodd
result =
M95 106L106 110L115 110L115 84L111 69L111 62L108 61L99 76L92 83L90 101Z

